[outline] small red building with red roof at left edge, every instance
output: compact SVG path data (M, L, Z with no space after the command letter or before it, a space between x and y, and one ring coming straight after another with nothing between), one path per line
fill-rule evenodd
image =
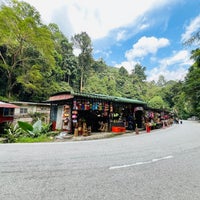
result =
M14 111L18 106L0 101L0 134L5 123L14 121Z

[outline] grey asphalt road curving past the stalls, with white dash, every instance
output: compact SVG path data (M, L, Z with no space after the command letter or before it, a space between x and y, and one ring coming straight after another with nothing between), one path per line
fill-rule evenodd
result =
M199 200L200 123L150 134L1 144L1 200Z

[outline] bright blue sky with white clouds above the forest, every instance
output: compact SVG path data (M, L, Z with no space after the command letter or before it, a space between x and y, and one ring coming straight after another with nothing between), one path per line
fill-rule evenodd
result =
M193 61L183 42L200 30L200 0L25 0L70 38L86 32L108 66L146 67L147 80L183 80Z

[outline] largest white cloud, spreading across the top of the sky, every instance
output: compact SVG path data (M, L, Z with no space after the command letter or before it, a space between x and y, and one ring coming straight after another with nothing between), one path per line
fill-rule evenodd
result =
M46 23L56 23L68 36L86 31L91 39L102 38L113 30L133 24L138 17L172 0L25 0L41 13ZM66 22L64 26L63 22ZM69 28L70 26L70 28ZM144 24L144 29L148 24Z

